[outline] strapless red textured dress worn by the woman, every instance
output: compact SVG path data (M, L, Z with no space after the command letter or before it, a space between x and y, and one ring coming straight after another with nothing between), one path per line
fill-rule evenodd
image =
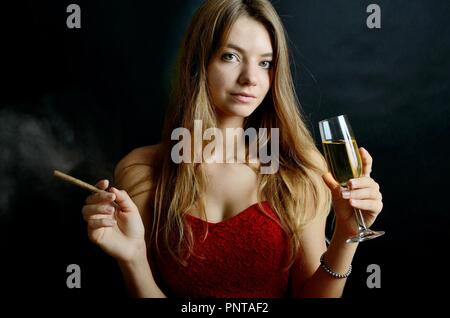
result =
M278 220L268 202L264 211ZM156 277L172 297L284 297L288 293L287 237L281 226L255 203L219 223L186 216L194 235L188 266L168 254L156 258Z

